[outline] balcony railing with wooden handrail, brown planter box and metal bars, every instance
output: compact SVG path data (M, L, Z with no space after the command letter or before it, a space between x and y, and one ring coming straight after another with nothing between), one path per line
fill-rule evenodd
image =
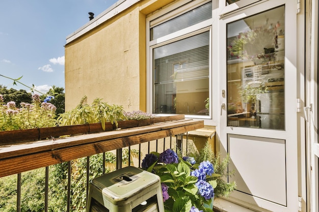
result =
M134 127L131 127L131 124L134 124ZM124 147L167 137L172 139L174 136L176 136L177 146L180 145L177 144L177 136L204 127L203 121L185 119L183 115L153 118L148 123L145 121L123 122L119 123L118 130L114 130L114 125L107 124L106 129L110 131L102 131L100 124L98 125L99 127L81 126L77 129L68 127L66 131L61 130L62 128L54 128L57 131L52 128L35 129L29 133L21 131L24 135L18 135L17 131L0 132L0 177L18 175L17 211L20 211L21 182L19 180L22 172L46 167L47 187L47 167L50 165L62 162L70 164L71 160L83 157L88 157L89 161L92 155L116 149L118 155L116 167L120 168L121 151ZM33 136L31 136L32 133ZM71 136L60 137L62 135ZM162 152L162 149L159 152ZM45 190L45 211L47 211L47 188ZM68 187L68 202L69 198ZM70 205L67 206L67 211L70 211Z

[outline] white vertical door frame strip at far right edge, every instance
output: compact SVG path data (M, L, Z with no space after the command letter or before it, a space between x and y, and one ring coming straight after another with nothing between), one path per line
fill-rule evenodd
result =
M306 119L306 138L307 138L307 166L308 181L308 210L316 212L319 210L319 175L318 175L318 1L309 1L306 5L308 12L306 36L306 47L310 47L306 51L306 104L304 115Z

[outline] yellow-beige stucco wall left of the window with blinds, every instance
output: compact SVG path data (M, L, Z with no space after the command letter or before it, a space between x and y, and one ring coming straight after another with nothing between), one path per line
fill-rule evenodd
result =
M87 96L146 111L145 19L170 2L141 1L65 45L66 110Z

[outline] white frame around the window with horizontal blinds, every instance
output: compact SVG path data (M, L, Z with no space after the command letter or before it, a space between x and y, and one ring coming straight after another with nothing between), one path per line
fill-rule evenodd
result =
M150 28L154 27L158 24L166 22L172 18L175 18L185 12L193 10L201 5L204 5L211 0L198 0L198 1L181 1L175 4L171 4L163 9L157 11L149 15L146 18L146 111L148 113L152 113L153 108L153 71L152 71L152 63L153 63L153 49L159 46L163 46L175 41L179 41L185 38L189 38L200 33L204 33L209 31L209 58L211 58L211 28L212 28L212 18L197 23L195 25L189 26L187 28L183 28L180 31L171 33L169 35L163 36L158 39L154 39L150 41ZM155 20L156 19L156 20ZM152 21L152 25L150 22ZM209 59L209 99L212 99L211 92L211 59ZM209 115L185 115L188 118L201 118L201 119L211 119L212 116L212 104L210 104ZM171 115L171 114L158 114L158 115Z

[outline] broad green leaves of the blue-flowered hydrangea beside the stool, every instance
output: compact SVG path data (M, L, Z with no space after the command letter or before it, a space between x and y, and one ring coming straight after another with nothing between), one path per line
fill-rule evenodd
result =
M199 210L212 212L212 209L206 207L212 199L206 200L199 193L199 188L196 185L199 180L197 176L191 175L191 172L197 169L199 164L192 165L179 157L178 163L165 164L159 162L161 156L158 153L152 152L150 154L155 155L158 160L147 167L147 171L158 175L161 178L162 186L165 184L168 187L169 198L165 198L165 211L189 212L191 207L195 206ZM147 157L143 161L145 160ZM209 175L206 176L206 181L212 186L211 190L216 187L216 180L210 180Z

